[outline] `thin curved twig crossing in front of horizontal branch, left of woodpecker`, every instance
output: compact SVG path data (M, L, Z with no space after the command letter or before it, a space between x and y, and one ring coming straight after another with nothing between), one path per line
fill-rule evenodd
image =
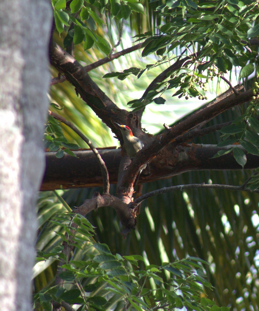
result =
M55 114L52 111L49 111L49 114L51 116L53 116L53 118L57 119L58 121L66 124L68 127L70 127L79 137L81 137L83 139L84 142L87 143L87 145L90 147L90 149L93 151L93 153L95 154L101 172L102 172L102 176L103 176L103 182L104 182L104 193L108 194L109 193L109 189L110 189L110 184L109 184L109 174L108 174L108 170L107 167L104 163L104 160L102 159L102 157L100 156L99 152L97 151L97 149L95 148L95 146L90 142L90 140L82 133L79 131L78 128L76 128L71 122L67 121L65 118L59 116L58 114Z

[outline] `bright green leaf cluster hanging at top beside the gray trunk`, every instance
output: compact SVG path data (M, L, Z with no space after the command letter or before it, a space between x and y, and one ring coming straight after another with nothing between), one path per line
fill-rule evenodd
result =
M132 11L143 12L144 8L138 0L52 0L55 25L59 35L65 30L64 47L72 43L80 44L84 41L84 49L94 45L104 54L109 55L111 47L109 42L99 36L97 27L101 27L104 20L100 17L105 10L117 19L127 20ZM68 5L69 3L69 5Z

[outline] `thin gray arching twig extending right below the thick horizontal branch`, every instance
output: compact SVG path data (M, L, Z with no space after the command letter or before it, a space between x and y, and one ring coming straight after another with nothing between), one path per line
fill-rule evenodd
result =
M149 193L143 194L142 196L138 197L137 199L134 200L134 202L130 203L128 205L129 208L133 208L137 204L143 202L144 200L156 196L160 193L166 193L169 191L174 191L174 190L183 190L183 189L190 189L190 188L209 188L209 189L227 189L227 190L236 190L236 191L246 191L246 192L252 192L251 189L243 188L242 186L230 186L230 185L222 185L222 184L206 184L206 183L193 183L193 184L188 184L188 185L178 185L178 186L172 186L172 187L164 187L161 189L157 189L154 191L151 191ZM255 193L259 193L259 189L253 190Z

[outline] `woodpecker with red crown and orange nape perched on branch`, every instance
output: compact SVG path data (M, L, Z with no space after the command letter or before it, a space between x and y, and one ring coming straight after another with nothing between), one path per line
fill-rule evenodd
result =
M139 138L133 136L132 130L127 125L114 123L120 127L127 155L132 159L138 151L144 148L144 144Z

